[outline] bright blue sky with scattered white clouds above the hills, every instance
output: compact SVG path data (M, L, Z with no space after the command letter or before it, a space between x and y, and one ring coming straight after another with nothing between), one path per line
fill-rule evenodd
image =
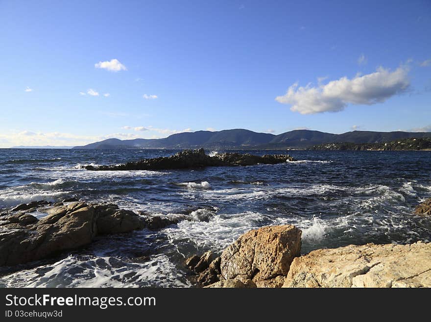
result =
M428 0L0 0L0 147L431 131L430 31Z

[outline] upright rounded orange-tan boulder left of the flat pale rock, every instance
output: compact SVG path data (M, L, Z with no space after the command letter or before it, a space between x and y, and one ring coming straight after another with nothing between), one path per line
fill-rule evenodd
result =
M251 279L258 287L280 287L301 250L301 230L292 225L251 230L221 254L220 271L224 280Z

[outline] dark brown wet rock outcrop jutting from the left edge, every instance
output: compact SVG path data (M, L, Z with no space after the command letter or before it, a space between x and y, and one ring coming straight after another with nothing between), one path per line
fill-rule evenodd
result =
M88 245L98 235L125 233L145 227L160 229L181 219L139 216L133 211L119 209L115 204L47 204L22 204L1 214L0 266L48 258ZM48 215L38 220L26 211L36 209Z

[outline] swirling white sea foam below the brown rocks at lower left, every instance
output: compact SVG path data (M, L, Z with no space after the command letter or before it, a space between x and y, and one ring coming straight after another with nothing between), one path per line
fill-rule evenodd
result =
M0 277L6 287L189 287L166 255L125 263L114 257L68 256L55 264Z

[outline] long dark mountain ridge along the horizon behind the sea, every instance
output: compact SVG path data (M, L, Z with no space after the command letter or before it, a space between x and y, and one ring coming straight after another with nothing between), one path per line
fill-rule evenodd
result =
M304 149L326 143L381 143L408 138L431 137L431 132L353 131L332 134L293 130L279 135L245 129L196 131L172 134L164 139L107 139L73 149Z

